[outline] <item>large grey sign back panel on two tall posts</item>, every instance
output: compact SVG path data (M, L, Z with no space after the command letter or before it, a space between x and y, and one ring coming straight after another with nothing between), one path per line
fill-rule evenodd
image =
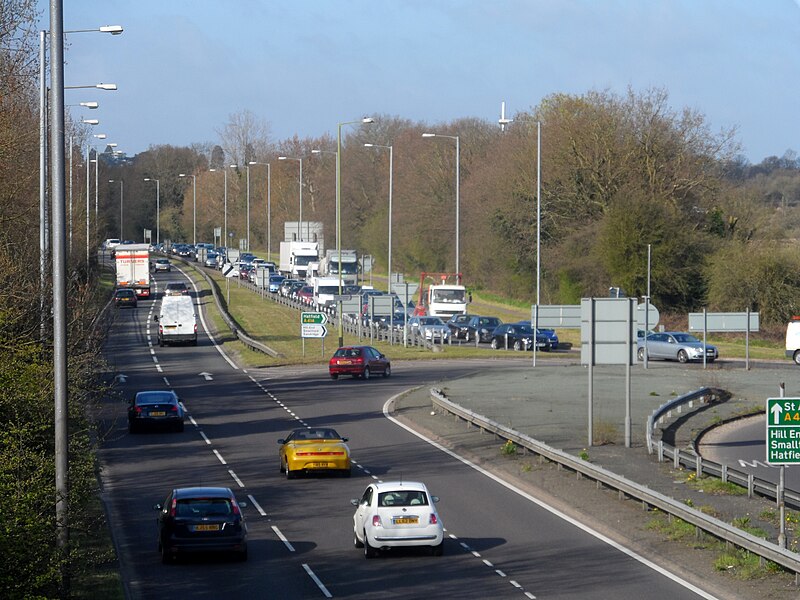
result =
M635 311L634 298L581 299L581 364L635 364Z

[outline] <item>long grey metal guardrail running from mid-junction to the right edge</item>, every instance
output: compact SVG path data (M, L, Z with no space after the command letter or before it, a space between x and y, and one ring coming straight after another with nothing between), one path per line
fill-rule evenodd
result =
M635 498L649 507L657 508L668 515L678 517L690 523L699 531L706 532L720 540L733 544L748 552L752 552L756 556L781 565L785 569L795 573L795 578L800 576L800 556L790 550L750 535L745 531L741 531L724 521L695 510L664 494L655 492L625 477L612 473L602 467L595 466L563 450L548 446L524 433L514 431L483 415L479 415L474 411L459 406L455 402L449 400L440 390L431 389L431 403L434 410L453 414L484 431L493 433L503 439L511 440L518 446L526 448L534 454L538 454L551 462L574 471L582 477L592 479L608 488L617 490L626 497Z

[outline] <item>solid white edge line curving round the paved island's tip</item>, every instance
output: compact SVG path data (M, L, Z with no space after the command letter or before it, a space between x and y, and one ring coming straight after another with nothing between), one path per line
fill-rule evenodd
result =
M668 579L671 579L672 581L674 581L678 585L683 586L687 590L690 590L690 591L694 592L695 594L697 594L701 598L705 598L706 600L719 600L716 596L714 596L712 594L709 594L708 592L706 592L704 590L701 590L699 587L689 583L685 579L681 579L680 577L678 577L674 573L669 572L668 570L666 570L662 566L657 565L656 563L654 563L653 561L645 558L641 554L638 554L637 552L634 552L630 548L626 548L622 544L619 544L618 542L615 542L614 540L612 540L611 538L603 535L599 531L597 531L595 529L592 529L591 527L589 527L588 525L585 525L584 523L581 523L577 519L573 519L569 515L564 514L560 510L557 510L557 509L553 508L552 506L550 506L549 504L546 504L545 502L539 500L538 498L536 498L534 496L531 496L529 493L525 492L524 490L521 490L520 488L516 487L515 485L512 485L511 483L509 483L507 481L504 481L503 479L501 479L497 475L495 475L493 473L490 473L489 471L487 471L483 467L480 467L480 466L476 465L475 463L473 463L472 461L464 458L463 456L460 456L460 455L456 454L452 450L450 450L448 448L445 448L444 446L442 446L438 442L435 442L435 441L425 437L421 433L419 433L417 431L414 431L411 427L409 427L405 423L401 423L400 421L398 421L392 415L389 414L389 407L392 406L392 404L394 404L394 401L397 398L399 398L403 393L405 393L405 392L401 392L399 394L396 394L396 395L392 396L391 398L389 398L383 404L383 415L387 419L389 419L392 423L397 425L398 427L401 427L401 428L405 429L410 434L412 434L412 435L418 437L419 439L429 443L434 448L436 448L438 450L441 450L445 454L447 454L449 456L452 456L453 458L455 458L456 460L462 462L463 464L467 465L468 467L470 467L472 469L475 469L481 475L484 475L484 476L488 477L489 479L492 479L493 481L499 483L500 485L502 485L506 489L511 490L512 492L522 496L523 498L525 498L526 500L529 500L530 502L533 502L534 504L536 504L540 508L545 509L546 511L548 511L551 514L557 516L558 518L566 521L567 523L570 523L571 525L574 525L575 527L577 527L581 531L584 531L584 532L588 533L589 535L594 536L598 540L600 540L602 542L605 542L606 544L608 544L612 548L616 548L620 552L628 555L630 558L640 562L641 564L651 568L655 572L661 573L664 577L667 577ZM502 573L502 571L500 571L500 570L497 571L497 574L500 575L501 577L505 577L505 574Z

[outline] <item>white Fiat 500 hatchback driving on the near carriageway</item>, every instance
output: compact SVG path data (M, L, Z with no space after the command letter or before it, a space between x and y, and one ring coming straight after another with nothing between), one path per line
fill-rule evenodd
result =
M434 556L442 555L444 527L432 496L424 483L389 481L370 484L361 498L350 503L353 515L353 543L372 558L379 550L398 546L427 546Z

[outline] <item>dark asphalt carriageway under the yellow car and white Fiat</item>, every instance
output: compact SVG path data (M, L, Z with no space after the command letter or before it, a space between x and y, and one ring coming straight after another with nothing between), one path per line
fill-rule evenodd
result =
M180 278L159 275L156 289ZM196 294L201 305L212 301ZM322 367L247 372L204 331L197 347L153 344L157 301L118 310L106 347L124 377L103 407L102 480L131 598L713 597L384 415L396 394L472 373L475 363L398 363L391 378L369 381L333 382ZM185 432L129 435L125 399L164 387L191 415ZM352 478L280 475L276 440L306 425L350 439ZM371 480L392 479L424 481L441 497L444 557L409 551L368 561L353 548L350 498ZM229 486L248 503L246 563L161 564L152 507L170 487L198 484Z

